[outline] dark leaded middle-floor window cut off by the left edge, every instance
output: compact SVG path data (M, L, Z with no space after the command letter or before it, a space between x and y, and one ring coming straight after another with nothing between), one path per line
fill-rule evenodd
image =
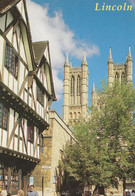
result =
M5 130L7 130L8 113L8 108L0 103L0 127Z

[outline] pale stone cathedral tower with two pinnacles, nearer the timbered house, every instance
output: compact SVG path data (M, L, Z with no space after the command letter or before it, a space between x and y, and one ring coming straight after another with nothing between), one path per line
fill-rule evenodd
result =
M64 63L63 120L72 125L88 116L88 67L85 52L80 67Z

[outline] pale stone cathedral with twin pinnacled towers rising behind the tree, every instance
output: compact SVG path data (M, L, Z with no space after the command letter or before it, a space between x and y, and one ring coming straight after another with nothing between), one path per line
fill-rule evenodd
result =
M129 46L128 56L125 63L113 63L111 48L108 58L108 85L117 79L121 83L123 79L132 83L131 48ZM88 117L88 66L85 52L80 67L69 65L68 54L64 63L64 84L63 84L63 120L68 125L73 125L80 118ZM92 102L97 101L95 87L93 85Z

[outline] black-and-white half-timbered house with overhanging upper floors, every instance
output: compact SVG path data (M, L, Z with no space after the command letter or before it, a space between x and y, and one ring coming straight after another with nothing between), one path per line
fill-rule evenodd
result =
M0 190L26 193L53 100L48 42L32 45L25 0L0 0Z

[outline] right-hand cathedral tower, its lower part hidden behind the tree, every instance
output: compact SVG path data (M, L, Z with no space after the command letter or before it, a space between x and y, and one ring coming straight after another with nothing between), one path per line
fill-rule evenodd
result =
M131 56L131 48L129 46L128 56L125 63L113 63L111 48L109 51L108 58L108 84L112 86L112 83L115 80L119 80L120 83L123 82L123 79L126 80L127 84L132 83L132 66L133 60Z

